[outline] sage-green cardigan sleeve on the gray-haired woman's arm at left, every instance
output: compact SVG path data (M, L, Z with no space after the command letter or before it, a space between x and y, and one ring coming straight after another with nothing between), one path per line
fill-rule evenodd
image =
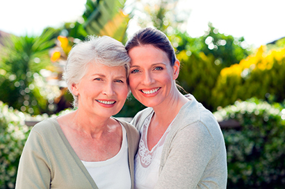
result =
M16 189L50 188L51 163L46 151L42 136L32 129L19 161Z

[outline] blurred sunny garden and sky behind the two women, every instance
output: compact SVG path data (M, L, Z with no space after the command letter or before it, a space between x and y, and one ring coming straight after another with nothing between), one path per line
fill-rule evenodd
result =
M225 137L228 188L285 186L285 2L0 1L0 188L15 188L29 131L72 111L62 80L87 35L123 44L143 27L165 33L179 85L213 112ZM144 107L130 96L117 117Z

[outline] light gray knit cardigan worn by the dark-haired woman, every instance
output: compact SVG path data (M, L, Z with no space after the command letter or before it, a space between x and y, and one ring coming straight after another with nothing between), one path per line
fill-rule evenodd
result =
M186 97L189 102L181 107L165 139L155 188L226 188L227 153L220 126L194 96ZM138 112L131 124L140 130L152 111Z

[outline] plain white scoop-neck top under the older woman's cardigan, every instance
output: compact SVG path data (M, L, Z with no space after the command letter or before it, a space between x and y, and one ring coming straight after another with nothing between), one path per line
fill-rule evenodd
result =
M122 126L122 125L121 125ZM122 147L106 161L82 161L99 189L131 188L131 175L128 161L128 141L126 129L122 126Z

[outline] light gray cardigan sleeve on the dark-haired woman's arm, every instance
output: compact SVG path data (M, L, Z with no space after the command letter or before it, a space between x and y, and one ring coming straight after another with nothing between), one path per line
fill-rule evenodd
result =
M161 161L158 188L197 188L211 159L214 141L208 129L196 122L179 130Z

